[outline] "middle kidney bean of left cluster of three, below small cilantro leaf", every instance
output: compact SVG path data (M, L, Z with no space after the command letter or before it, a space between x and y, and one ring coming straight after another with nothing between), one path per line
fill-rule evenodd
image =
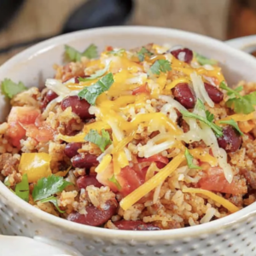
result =
M91 166L97 166L98 160L94 154L77 154L72 159L72 165L76 168L90 168Z

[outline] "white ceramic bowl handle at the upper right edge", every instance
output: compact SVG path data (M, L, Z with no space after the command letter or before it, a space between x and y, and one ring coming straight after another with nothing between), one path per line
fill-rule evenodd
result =
M225 41L225 43L229 44L231 47L241 49L247 53L253 53L253 51L256 51L256 35L230 39Z

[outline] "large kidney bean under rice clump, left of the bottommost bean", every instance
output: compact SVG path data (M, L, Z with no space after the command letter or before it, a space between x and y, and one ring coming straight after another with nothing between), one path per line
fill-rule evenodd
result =
M101 210L92 205L85 207L87 214L72 212L67 216L67 220L90 226L100 226L106 223L116 212L117 202L107 201L106 209Z

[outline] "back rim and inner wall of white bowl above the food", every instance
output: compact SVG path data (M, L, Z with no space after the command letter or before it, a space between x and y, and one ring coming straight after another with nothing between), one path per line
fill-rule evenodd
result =
M108 45L131 49L148 43L183 45L220 61L230 85L241 79L256 81L256 59L218 40L190 32L141 26L105 27L49 39L3 64L0 67L0 81L9 78L15 82L22 81L28 87L43 86L45 79L54 76L53 65L63 63L65 44L79 50L96 44L100 52ZM0 122L6 118L8 106L8 102L0 96Z

